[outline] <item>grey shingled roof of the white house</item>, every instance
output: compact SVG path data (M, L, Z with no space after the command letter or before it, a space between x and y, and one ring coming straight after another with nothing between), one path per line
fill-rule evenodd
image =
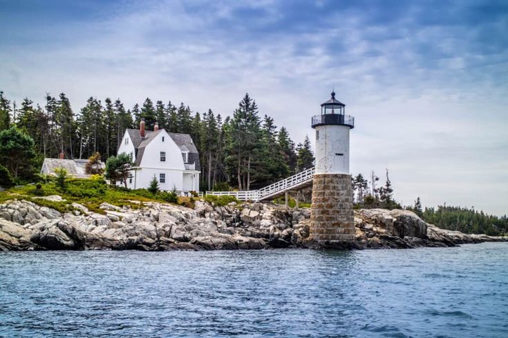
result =
M159 129L156 131L145 130L144 137L140 136L140 130L138 129L127 129L129 133L129 137L131 137L131 141L136 150L136 160L135 165L140 166L141 160L143 159L144 148L148 146L148 144L157 137L164 129ZM191 135L189 134L180 134L178 132L168 132L169 137L175 141L176 145L182 151L189 152L189 162L196 163L196 170L200 170L199 163L199 154L198 149L194 145L192 141Z

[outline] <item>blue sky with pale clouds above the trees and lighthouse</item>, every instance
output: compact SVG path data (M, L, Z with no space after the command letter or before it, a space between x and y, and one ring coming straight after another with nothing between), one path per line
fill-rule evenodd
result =
M408 205L508 213L508 1L0 0L0 90L44 102L245 92L292 139L330 97L355 117L350 170Z

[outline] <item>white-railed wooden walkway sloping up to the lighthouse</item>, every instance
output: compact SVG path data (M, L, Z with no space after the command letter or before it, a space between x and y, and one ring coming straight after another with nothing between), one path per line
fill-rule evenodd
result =
M263 199L275 198L277 195L295 188L308 186L312 182L313 176L314 168L310 168L258 190L207 191L206 195L234 196L239 201L262 201Z

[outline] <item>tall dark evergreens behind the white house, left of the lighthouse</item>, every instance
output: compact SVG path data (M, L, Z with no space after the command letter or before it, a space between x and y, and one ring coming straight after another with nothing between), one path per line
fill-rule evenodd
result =
M106 161L117 155L125 130L138 128L141 119L147 130L158 123L168 132L191 135L200 153L203 190L259 188L314 165L310 139L296 144L288 130L277 128L272 117L260 114L248 94L226 117L211 109L193 112L185 103L175 106L150 98L126 109L120 99L90 97L79 110L73 109L63 92L57 97L46 94L45 99L44 106L28 98L17 106L0 92L0 132L21 130L32 139L35 153L31 173L6 166L15 179L30 179L44 157L63 154L66 159L87 159L99 152ZM0 164L6 161L0 159Z

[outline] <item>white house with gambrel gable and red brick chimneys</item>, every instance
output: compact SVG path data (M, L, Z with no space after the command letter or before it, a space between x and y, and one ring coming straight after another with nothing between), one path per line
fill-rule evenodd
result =
M148 188L155 176L160 190L199 191L199 154L189 134L159 129L125 130L118 154L131 155L135 163L127 188Z

